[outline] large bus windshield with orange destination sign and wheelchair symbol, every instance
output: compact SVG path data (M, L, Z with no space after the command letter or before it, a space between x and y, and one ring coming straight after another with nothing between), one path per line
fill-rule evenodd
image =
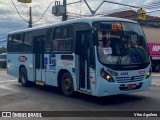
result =
M144 33L130 22L100 22L98 57L102 64L132 65L149 62Z

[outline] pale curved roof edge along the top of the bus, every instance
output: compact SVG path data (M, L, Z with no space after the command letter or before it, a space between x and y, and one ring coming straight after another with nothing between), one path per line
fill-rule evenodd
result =
M116 18L116 17L84 17L84 18L76 18L76 19L72 19L72 20L67 20L67 21L63 21L63 22L57 22L57 23L53 23L50 25L46 25L46 26L17 30L17 31L10 32L9 34L15 34L15 33L20 33L20 32L29 32L32 30L45 29L45 28L49 28L49 27L74 24L74 23L89 23L89 24L91 24L92 22L95 22L95 21L122 21L122 22L137 23L132 20L128 20L128 19L124 19L124 18Z

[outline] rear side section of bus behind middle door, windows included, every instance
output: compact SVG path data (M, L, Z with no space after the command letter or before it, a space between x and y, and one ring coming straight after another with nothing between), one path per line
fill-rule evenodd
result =
M27 78L33 80L32 39L29 32L16 32L8 35L7 41L7 73L19 78L21 68L27 71Z

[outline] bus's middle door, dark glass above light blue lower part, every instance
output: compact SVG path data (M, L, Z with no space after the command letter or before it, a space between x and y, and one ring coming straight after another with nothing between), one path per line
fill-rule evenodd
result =
M45 36L34 37L35 80L40 82L45 82L44 50L45 50Z

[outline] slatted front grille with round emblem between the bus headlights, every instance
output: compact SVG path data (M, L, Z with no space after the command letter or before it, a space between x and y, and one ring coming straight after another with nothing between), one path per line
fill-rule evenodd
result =
M142 81L143 79L144 75L132 76L132 77L116 77L116 81L118 83L136 82L136 81Z

